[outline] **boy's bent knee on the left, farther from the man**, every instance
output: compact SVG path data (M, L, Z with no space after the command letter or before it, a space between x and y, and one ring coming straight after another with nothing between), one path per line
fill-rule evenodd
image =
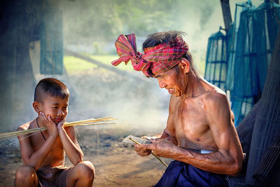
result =
M33 167L28 165L23 165L17 169L15 172L15 181L29 181L34 180L36 172Z

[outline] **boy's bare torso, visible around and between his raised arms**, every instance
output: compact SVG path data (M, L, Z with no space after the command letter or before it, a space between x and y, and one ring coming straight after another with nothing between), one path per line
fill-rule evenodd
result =
M25 129L34 129L37 128L36 120L32 120L29 123L26 123L25 125L22 125L21 127L24 127ZM43 146L45 139L48 139L48 132L46 130L41 132L34 132L29 135L29 141L32 147L32 150L38 151L38 149ZM45 137L45 139L43 138ZM57 167L57 166L64 166L64 160L65 160L65 152L62 146L62 141L57 136L57 139L55 139L54 144L52 145L52 148L50 148L50 152L46 156L45 160L43 160L43 163L41 164L41 167Z

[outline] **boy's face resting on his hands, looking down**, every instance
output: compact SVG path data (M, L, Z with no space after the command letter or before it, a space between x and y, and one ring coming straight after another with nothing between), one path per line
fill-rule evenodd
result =
M62 99L61 97L52 97L45 95L43 103L39 103L39 111L45 113L45 116L50 115L55 124L66 118L68 113L69 98Z

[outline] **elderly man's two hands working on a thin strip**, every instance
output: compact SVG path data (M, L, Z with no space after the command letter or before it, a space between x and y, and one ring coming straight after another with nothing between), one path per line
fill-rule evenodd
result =
M151 139L153 144L142 144L134 145L134 151L136 151L141 156L150 155L151 151L155 155L165 158L172 158L174 154L174 148L177 146L173 144L172 141L168 139Z

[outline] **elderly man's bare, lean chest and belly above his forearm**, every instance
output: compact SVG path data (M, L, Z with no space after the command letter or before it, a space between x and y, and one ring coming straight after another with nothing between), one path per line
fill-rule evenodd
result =
M174 137L175 144L198 150L218 150L205 110L208 96L213 94L223 94L223 92L207 85L207 91L197 97L171 97L165 131Z

